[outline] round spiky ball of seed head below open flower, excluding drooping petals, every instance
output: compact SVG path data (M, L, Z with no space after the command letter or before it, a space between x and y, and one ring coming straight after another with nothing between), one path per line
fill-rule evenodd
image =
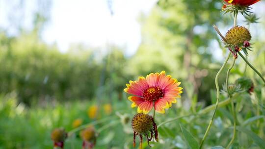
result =
M138 113L132 119L132 129L139 134L145 134L153 130L153 125L153 117L147 114Z

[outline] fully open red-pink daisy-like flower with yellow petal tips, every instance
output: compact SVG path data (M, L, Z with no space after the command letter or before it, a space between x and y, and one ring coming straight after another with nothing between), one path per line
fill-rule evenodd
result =
M132 94L128 99L132 101L132 107L138 107L138 113L147 114L154 107L159 113L165 113L164 109L176 103L176 98L181 98L181 82L166 75L165 71L160 74L150 74L146 78L140 76L137 81L126 84L124 91Z

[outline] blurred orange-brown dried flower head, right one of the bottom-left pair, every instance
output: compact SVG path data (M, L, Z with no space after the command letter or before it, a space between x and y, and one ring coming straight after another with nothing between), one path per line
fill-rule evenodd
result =
M88 126L80 132L80 137L83 140L83 149L92 149L96 144L96 131L93 126Z

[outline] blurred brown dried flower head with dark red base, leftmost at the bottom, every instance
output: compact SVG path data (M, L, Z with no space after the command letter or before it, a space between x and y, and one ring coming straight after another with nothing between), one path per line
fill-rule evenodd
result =
M63 128L56 128L53 130L51 138L53 140L54 147L63 149L63 144L65 139L67 138L67 133Z

